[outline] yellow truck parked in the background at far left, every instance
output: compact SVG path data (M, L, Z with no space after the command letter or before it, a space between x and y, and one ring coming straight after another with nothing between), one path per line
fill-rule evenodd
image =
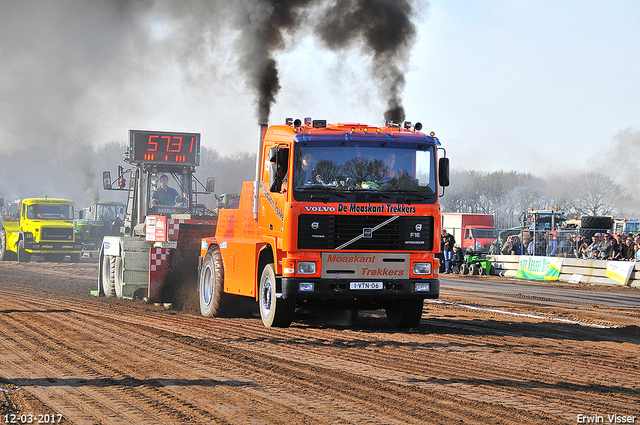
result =
M82 238L73 225L73 202L55 198L25 198L17 221L3 221L0 260L29 262L31 255L80 262Z

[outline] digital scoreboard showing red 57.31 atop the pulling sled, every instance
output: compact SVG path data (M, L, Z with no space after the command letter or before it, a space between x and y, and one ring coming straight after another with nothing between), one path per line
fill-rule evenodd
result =
M200 133L129 130L129 162L200 165Z

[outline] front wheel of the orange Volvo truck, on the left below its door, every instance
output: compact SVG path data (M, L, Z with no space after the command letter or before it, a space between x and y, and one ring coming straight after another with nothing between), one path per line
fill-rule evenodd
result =
M296 312L296 301L276 297L276 272L272 264L267 264L260 277L258 306L262 323L268 328L286 328L291 325Z

